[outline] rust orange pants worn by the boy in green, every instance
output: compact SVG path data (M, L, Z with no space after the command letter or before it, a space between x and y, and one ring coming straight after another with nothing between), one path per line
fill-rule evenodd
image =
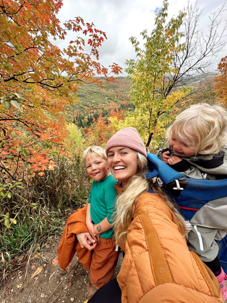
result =
M115 238L99 238L96 248L92 251L89 277L95 288L107 284L117 265L119 252L115 250Z

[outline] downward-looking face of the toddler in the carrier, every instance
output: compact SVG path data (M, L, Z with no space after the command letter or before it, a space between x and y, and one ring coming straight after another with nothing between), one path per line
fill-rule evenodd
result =
M179 155L190 157L196 154L196 147L188 146L176 136L175 132L172 132L171 138L169 140L169 145L173 151Z

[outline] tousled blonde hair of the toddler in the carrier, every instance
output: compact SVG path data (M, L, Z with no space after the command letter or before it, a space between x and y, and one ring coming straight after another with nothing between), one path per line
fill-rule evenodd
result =
M166 132L170 140L177 138L201 155L214 155L226 150L227 112L219 105L200 103L192 105L176 117Z

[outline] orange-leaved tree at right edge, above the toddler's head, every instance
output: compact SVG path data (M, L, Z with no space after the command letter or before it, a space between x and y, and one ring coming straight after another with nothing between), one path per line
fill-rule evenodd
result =
M218 64L217 71L221 73L214 78L215 86L214 92L218 94L218 101L227 106L227 56L221 59Z

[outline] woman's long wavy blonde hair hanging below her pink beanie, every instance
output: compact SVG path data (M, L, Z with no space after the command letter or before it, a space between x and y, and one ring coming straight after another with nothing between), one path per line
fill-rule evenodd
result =
M122 191L117 196L115 201L116 211L113 214L114 236L118 244L122 245L126 242L127 231L132 222L135 202L139 196L149 190L150 187L153 191L163 198L165 203L173 211L176 218L179 221L180 226L186 233L186 226L184 218L179 214L177 208L174 206L174 202L168 197L168 195L156 184L153 184L151 180L146 179L147 171L147 159L144 155L135 151L138 161L138 172L133 175L128 182L123 186Z

